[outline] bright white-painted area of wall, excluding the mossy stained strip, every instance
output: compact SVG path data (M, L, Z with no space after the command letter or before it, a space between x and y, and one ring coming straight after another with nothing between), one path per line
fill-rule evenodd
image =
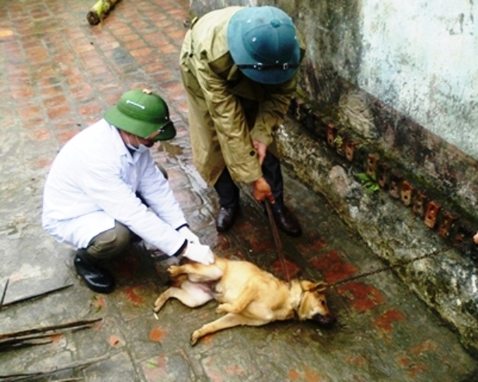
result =
M478 6L362 2L357 85L478 158ZM474 22L476 19L476 23Z

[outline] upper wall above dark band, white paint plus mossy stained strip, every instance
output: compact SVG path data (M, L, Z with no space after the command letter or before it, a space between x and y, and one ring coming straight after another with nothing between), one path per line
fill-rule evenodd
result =
M478 6L473 0L277 3L296 16L307 37L308 59L318 71L331 67L478 159L478 66L472 64L478 59ZM311 23L314 19L318 23Z

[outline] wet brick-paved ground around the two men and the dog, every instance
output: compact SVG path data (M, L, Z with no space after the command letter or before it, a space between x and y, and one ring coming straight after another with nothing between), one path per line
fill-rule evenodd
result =
M478 380L478 360L392 272L329 289L338 319L331 328L276 322L209 335L194 347L190 333L216 316L215 304L171 301L155 320L153 301L166 288L158 253L134 248L112 264L112 294L90 291L72 270L73 250L40 226L42 185L58 149L131 88L152 88L171 108L178 136L154 155L192 229L221 256L282 276L249 189L234 229L218 235L216 195L192 165L177 64L188 1L123 0L92 27L93 3L0 1L0 298L9 280L0 381L34 373L40 381L88 382ZM287 203L304 228L299 239L281 235L291 274L333 283L383 266L320 195L284 172ZM6 333L85 321L81 330L47 332L36 346L6 342Z

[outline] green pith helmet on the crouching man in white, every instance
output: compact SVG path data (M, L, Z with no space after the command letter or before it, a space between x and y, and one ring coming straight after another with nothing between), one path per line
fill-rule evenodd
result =
M169 119L168 105L159 95L144 89L128 91L118 104L106 110L103 118L118 129L140 138L153 136L155 141L167 141L176 136L176 129Z

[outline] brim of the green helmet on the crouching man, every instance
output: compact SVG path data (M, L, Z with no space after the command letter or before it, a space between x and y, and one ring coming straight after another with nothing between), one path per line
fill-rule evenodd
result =
M142 139L146 139L156 131L160 131L160 134L154 137L154 141L168 141L176 136L176 129L173 122L154 123L140 121L123 114L116 106L112 106L106 110L103 118L116 128L137 135ZM138 132L143 132L143 134L139 135Z

